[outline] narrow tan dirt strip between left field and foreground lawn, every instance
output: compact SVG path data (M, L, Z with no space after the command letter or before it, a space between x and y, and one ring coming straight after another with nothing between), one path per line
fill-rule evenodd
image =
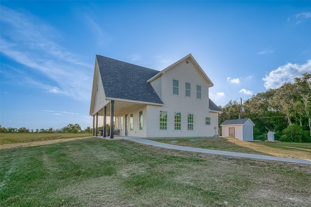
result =
M92 138L92 137L66 138L66 139L53 139L53 140L46 140L46 141L33 141L33 142L25 142L25 143L1 144L0 150L12 149L12 148L18 148L18 147L31 147L31 146L39 146L39 145L45 145L45 144L54 144L58 142L72 141L72 140L78 140L78 139L84 139L84 138Z

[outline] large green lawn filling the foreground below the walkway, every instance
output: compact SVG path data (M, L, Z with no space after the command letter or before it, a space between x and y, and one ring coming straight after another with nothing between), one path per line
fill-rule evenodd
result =
M311 206L311 165L86 138L0 150L0 206Z

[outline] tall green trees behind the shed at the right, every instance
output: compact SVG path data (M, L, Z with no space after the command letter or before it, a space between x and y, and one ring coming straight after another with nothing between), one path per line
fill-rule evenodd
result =
M254 139L266 140L268 131L275 132L275 139L291 142L311 142L311 73L295 78L294 83L284 83L276 89L258 93L242 106L229 101L219 116L225 120L250 118L254 123Z

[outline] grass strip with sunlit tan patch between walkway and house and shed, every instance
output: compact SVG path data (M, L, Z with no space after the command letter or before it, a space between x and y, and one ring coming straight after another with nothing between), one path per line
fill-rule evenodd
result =
M196 141L191 142L191 139ZM169 138L154 141L211 150L311 159L311 143L241 141L236 138Z

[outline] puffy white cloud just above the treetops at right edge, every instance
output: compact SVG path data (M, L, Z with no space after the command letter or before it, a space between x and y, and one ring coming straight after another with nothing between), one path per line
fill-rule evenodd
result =
M307 63L299 65L287 63L286 65L280 66L275 70L272 70L262 80L264 81L264 87L278 88L285 82L293 82L294 78L301 77L302 73L311 71L311 59Z

